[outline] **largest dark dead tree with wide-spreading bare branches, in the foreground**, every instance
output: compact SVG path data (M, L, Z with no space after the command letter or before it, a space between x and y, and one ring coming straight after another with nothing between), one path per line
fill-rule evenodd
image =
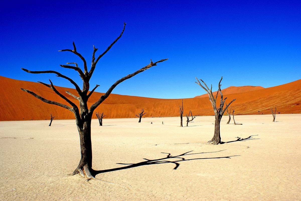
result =
M99 59L101 59L102 56L104 56L104 54L106 54L110 48L116 43L116 41L118 41L118 39L122 36L124 29L125 29L126 23L124 23L123 26L123 30L121 32L121 34L113 41L113 43L111 43L109 45L109 47L107 47L107 49L101 53L97 58L95 58L95 53L98 50L97 48L94 48L93 50L93 54L92 54L92 63L91 63L91 69L88 70L87 68L87 62L85 60L85 58L76 50L75 44L73 42L73 50L71 49L66 49L66 50L59 50L59 51L67 51L67 52L71 52L74 53L76 56L78 56L82 62L83 62L83 71L82 69L78 66L77 63L73 62L73 63L67 63L67 64L74 64L74 65L61 65L61 67L63 68L67 68L67 69L73 69L75 71L77 71L79 73L80 78L82 79L83 83L82 83L82 89L79 88L79 86L76 84L75 81L73 81L71 78L62 75L59 72L56 71L29 71L27 69L23 69L24 71L28 72L28 73L34 73L34 74L39 74L39 73L54 73L57 75L57 77L61 77L64 79L67 79L68 81L70 81L74 86L75 89L78 93L78 95L74 95L68 91L66 91L67 94L69 94L70 96L72 96L73 98L77 99L79 101L79 107L78 105L76 105L75 103L73 103L70 99L68 99L65 95L63 95L61 92L59 92L56 87L54 87L54 85L52 84L52 82L50 81L50 84L45 84L43 82L39 82L43 85L45 85L46 87L49 87L51 90L53 90L58 96L60 96L62 99L64 99L69 105L64 105L62 103L58 103L55 101L51 101L51 100L47 100L45 98L43 98L42 96L37 95L36 93L23 89L21 88L21 90L33 95L34 97L42 100L43 102L49 103L49 104L53 104L53 105L57 105L60 106L62 108L66 108L67 110L70 110L71 112L74 113L75 119L76 119L76 126L77 129L79 131L79 141L80 141L80 151L81 151L81 158L79 161L79 164L76 166L76 169L73 171L73 173L71 175L75 175L75 174L80 174L82 176L86 176L88 177L88 179L94 178L95 179L95 170L92 169L92 143L91 143L91 120L92 120L92 115L94 113L94 110L105 100L107 99L107 97L110 95L110 93L113 91L113 89L120 84L121 82L132 78L133 76L137 75L138 73L141 73L147 69L150 69L151 67L157 65L157 63L159 62L163 62L167 59L162 59L159 60L157 62L152 62L148 65L146 65L145 67L139 69L138 71L129 74L123 78L121 78L120 80L116 81L108 90L105 94L103 94L98 101L96 101L94 104L92 104L90 106L90 108L88 108L88 99L91 97L92 93L94 92L94 90L99 86L96 85L92 91L89 92L89 81L90 78L92 77L92 74L95 70L96 64L99 61Z

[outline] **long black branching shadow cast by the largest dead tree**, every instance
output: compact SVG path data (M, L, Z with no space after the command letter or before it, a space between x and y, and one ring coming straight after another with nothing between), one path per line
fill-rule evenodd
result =
M221 150L221 151L225 151L225 150ZM182 162L182 161L234 157L234 156L224 156L224 157L185 159L184 156L188 156L188 155L216 153L216 152L220 152L220 151L203 152L203 153L190 153L190 152L192 152L192 151L188 151L188 152L185 152L184 154L179 154L177 156L172 156L170 153L161 152L162 154L167 154L167 156L163 157L163 158L159 158L159 159L154 159L154 160L149 160L149 159L143 158L146 161L142 161L139 163L116 163L116 164L127 165L127 166L112 168L112 169L105 169L105 170L93 170L93 173L94 173L94 175L98 175L98 174L104 173L104 172L113 172L113 171L117 171L117 170L129 169L129 168L134 168L134 167L138 167L138 166L154 165L154 164L162 164L162 163L173 163L173 164L175 164L175 167L173 169L177 169L180 166L179 162ZM190 153L190 154L188 154L188 153ZM235 155L235 156L239 156L239 155ZM171 160L171 159L175 159L175 160Z

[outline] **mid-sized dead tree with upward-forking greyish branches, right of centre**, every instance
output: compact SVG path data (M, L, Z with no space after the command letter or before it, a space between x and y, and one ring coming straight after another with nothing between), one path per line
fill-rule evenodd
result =
M203 87L203 85L200 83L200 81L198 79L197 79L197 82L195 82L198 85L200 85L207 92L207 94L209 96L209 100L210 100L211 105L213 107L213 111L214 111L214 114L215 114L214 135L213 135L213 138L209 141L209 142L212 142L213 145L217 145L217 144L221 143L221 135L220 135L221 119L222 119L223 114L225 113L226 109L229 107L229 105L233 101L236 100L236 99L233 99L229 104L226 104L225 108L224 108L224 104L225 104L225 101L226 101L227 97L225 99L223 99L223 94L222 94L222 90L221 90L221 86L222 86L221 81L222 81L222 79L223 79L223 77L219 81L219 89L217 90L215 98L212 94L212 84L211 84L211 88L209 89L207 87L206 83L203 80L200 80L200 81L205 85L206 88ZM217 99L217 96L218 96L219 93L220 93L220 104L217 107L216 106L216 99Z

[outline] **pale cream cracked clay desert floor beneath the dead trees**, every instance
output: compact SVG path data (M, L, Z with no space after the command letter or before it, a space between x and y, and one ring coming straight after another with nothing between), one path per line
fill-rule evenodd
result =
M94 119L93 168L103 181L68 176L80 159L75 120L2 121L0 200L300 200L301 114L227 120L228 143L209 145L213 116L188 127L179 117L104 119L104 126Z

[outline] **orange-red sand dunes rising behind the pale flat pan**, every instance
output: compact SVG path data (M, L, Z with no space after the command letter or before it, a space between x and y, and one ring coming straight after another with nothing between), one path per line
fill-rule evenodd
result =
M74 119L72 112L56 105L50 105L23 92L20 88L31 90L48 100L69 105L51 89L39 83L19 81L0 76L0 120L45 120L50 113L55 119ZM76 94L75 89L57 87L72 102L78 101L65 93ZM270 107L277 107L281 114L300 114L301 112L301 80L276 87L263 88L253 86L228 87L223 91L227 101L236 99L231 106L235 114L271 114ZM200 88L200 93L203 90ZM96 102L103 93L94 92L89 99L89 106ZM181 96L181 94L179 94ZM154 99L138 96L111 94L95 110L104 112L105 118L133 118L142 108L147 112L144 117L179 116L179 105L182 99ZM184 114L192 111L193 115L213 115L208 95L183 99ZM258 112L259 111L259 112ZM96 115L93 115L96 118Z

